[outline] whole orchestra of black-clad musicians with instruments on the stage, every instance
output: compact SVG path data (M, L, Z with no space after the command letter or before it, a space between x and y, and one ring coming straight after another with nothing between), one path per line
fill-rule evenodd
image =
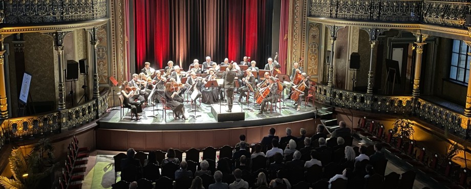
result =
M184 71L173 61L168 61L163 69L152 68L145 62L139 74L133 74L131 81L123 81L121 85L122 102L131 107L131 112L140 120L142 106L154 106L164 103L166 108L173 110L175 120L187 119L184 103L196 108L196 103L225 103L226 112L231 112L234 96L239 97L235 103L248 103L250 93L254 97L254 105L260 106L258 114L267 111L268 102L291 99L295 110L299 111L304 97L308 95L311 80L303 72L302 62L293 63L291 73L282 73L280 64L268 58L264 69L256 67L255 61L244 57L239 64L225 58L220 64L206 57L202 64L195 59ZM289 74L289 75L288 75ZM286 93L285 93L286 89ZM286 99L285 95L288 96ZM189 110L191 111L191 110Z

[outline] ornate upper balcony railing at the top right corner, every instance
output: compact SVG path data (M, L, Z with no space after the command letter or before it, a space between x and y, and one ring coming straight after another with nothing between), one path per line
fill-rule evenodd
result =
M467 1L311 0L311 17L465 28Z

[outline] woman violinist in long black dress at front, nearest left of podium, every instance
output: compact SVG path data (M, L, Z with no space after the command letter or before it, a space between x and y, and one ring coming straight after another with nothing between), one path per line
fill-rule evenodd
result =
M175 120L180 119L180 117L186 120L185 109L183 104L179 101L181 98L179 98L178 89L175 89L170 82L165 83L165 106L172 109ZM183 101L183 99L181 100Z

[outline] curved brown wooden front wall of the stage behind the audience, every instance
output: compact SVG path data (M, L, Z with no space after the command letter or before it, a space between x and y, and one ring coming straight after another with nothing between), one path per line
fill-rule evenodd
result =
M291 128L293 136L301 136L299 130L306 129L306 136L315 133L315 124L320 123L314 111L263 119L219 122L219 123L116 123L98 122L96 148L99 150L137 151L167 150L168 148L187 150L190 148L215 148L239 142L245 134L250 144L259 143L268 130L276 129L275 135L286 136L286 128Z

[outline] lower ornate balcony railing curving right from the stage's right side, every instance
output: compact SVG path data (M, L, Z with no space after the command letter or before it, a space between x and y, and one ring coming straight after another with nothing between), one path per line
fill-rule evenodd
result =
M419 119L444 128L449 132L465 136L468 120L463 112L455 112L445 107L414 99L412 96L382 96L362 92L340 90L323 84L315 85L315 99L319 103L372 112L410 114Z

